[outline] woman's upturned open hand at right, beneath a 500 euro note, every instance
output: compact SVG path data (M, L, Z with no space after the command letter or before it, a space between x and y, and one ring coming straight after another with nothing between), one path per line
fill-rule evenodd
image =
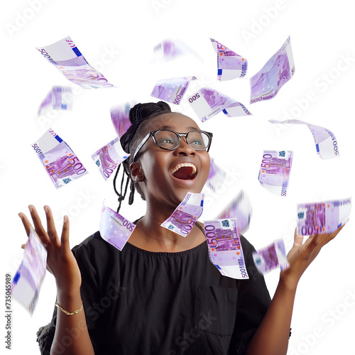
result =
M344 225L345 224L339 226L339 228L333 233L309 236L305 241L305 244L302 244L304 236L297 235L297 229L295 229L293 247L288 252L288 263L290 264L290 267L281 272L280 280L283 280L283 283L288 285L289 288L295 289L302 273L304 273L310 263L315 260L320 249L334 239Z

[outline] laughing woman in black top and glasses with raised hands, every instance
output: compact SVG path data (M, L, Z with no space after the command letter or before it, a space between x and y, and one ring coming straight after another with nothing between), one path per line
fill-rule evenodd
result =
M121 182L119 202L131 182L129 203L137 190L147 209L122 251L99 232L70 251L68 218L58 239L50 208L44 207L45 231L29 207L58 288L53 320L38 332L42 353L286 354L298 280L342 227L303 245L295 234L290 268L280 273L271 301L243 236L250 278L234 280L210 263L200 223L186 238L160 226L187 192L201 192L212 134L164 102L136 105L130 121L121 137L131 153L124 163L129 180ZM29 234L30 222L19 215Z

